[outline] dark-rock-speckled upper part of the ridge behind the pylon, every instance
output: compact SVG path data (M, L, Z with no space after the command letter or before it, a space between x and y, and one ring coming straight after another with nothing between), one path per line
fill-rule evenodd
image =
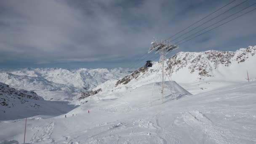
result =
M201 77L214 77L213 71L221 67L229 68L231 64L239 64L246 61L249 57L255 56L256 46L249 46L248 48L240 48L237 51L204 51L204 52L179 52L168 59L168 67L165 68L169 75L178 73L181 69L186 68L186 72L195 74L198 79ZM158 64L157 62L155 64ZM139 79L140 75L147 76L155 72L156 69L148 69L141 67L130 75L117 81L115 86L120 84L127 84L132 80Z

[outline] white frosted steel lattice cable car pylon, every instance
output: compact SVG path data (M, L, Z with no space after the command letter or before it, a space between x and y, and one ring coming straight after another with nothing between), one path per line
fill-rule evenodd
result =
M154 88L155 88L155 83L157 82L157 78L159 78L157 76L157 74L161 72L161 74L159 75L160 78L161 78L161 101L162 103L166 102L165 99L167 98L173 98L175 97L176 98L176 94L175 94L175 91L174 91L174 87L173 87L173 82L171 80L171 77L168 76L168 73L165 71L165 67L168 67L168 63L167 63L167 60L166 60L166 55L173 51L173 50L176 50L178 47L176 45L173 45L171 43L171 41L166 41L166 40L161 40L160 42L158 42L157 40L153 40L151 42L151 47L149 48L149 51L148 53L151 53L153 51L155 51L155 53L159 53L160 54L160 59L159 59L159 66L157 68L157 73L156 73L156 77L155 77L155 82L153 84L153 89L152 89L152 95L153 95L153 91L154 91ZM171 73L170 73L171 74ZM165 84L165 80L166 78L168 78L168 80L171 82L171 85L170 84ZM166 90L169 90L170 93L167 93ZM167 94L167 95L166 95Z

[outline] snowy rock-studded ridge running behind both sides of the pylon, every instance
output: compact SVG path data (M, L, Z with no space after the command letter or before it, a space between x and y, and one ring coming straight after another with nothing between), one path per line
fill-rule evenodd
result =
M247 72L256 79L256 46L233 51L179 52L168 59L165 71L177 83L195 83L202 80L245 81ZM156 77L158 62L152 67L141 67L117 81L117 85L152 83Z

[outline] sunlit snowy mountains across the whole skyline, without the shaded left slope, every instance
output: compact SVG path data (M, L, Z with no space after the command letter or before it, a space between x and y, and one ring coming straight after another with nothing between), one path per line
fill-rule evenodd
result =
M177 83L196 83L207 80L246 81L256 80L256 46L237 51L179 52L168 59L165 71ZM27 68L0 70L0 82L16 89L33 91L45 100L69 101L78 104L78 99L105 93L125 91L141 85L161 81L158 62L152 67L130 69L61 69ZM101 88L101 91L99 89ZM87 94L90 92L90 94ZM95 92L96 91L96 92ZM83 95L84 96L83 96Z

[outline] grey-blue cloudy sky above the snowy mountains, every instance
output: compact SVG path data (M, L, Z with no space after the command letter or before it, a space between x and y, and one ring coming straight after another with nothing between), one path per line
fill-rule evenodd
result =
M128 67L147 53L153 37L168 38L231 1L0 0L0 68ZM243 1L235 0L187 31ZM184 31L171 40L176 43L254 3L255 0L247 0L194 31L179 37L187 32ZM256 5L229 19L254 8ZM235 51L256 45L255 26L256 10L179 45L171 54ZM174 40L176 37L179 38ZM134 67L153 59L157 57L152 54Z

